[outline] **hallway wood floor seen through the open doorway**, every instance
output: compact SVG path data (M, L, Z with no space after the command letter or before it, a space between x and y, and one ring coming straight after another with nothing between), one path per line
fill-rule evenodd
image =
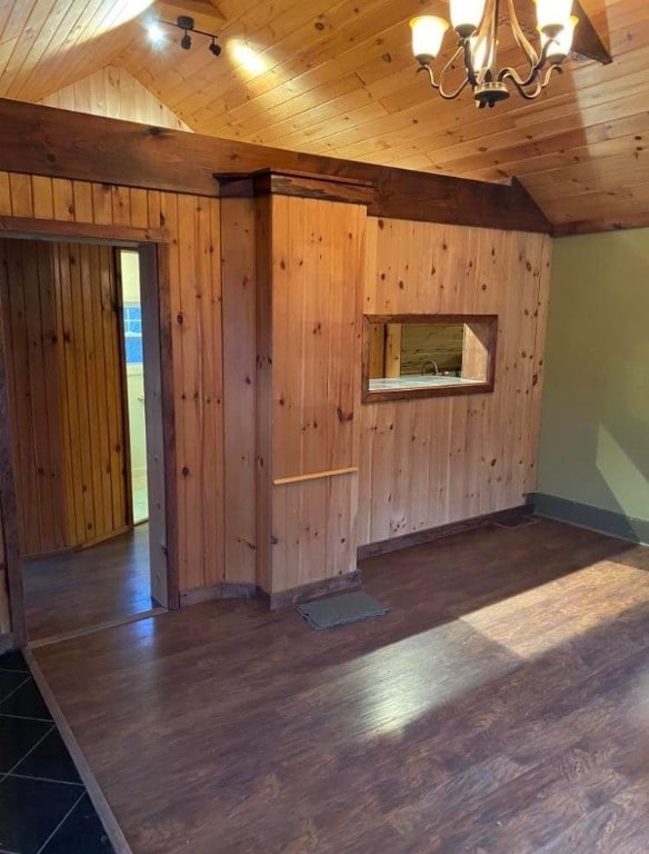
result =
M149 526L97 546L23 564L30 640L151 610Z

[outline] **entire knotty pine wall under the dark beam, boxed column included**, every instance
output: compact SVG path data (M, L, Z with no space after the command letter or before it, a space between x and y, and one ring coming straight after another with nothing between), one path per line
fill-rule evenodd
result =
M277 543L267 550L280 590L327 577L331 560L349 572L357 543L516 506L533 488L549 239L360 210L0 172L0 216L167 229L183 592L269 588L254 576L266 549L256 514L270 513L270 493L254 489L256 454L258 466L273 460ZM254 291L267 295L257 310ZM495 393L361 406L363 312L497 314ZM256 365L256 348L272 363Z

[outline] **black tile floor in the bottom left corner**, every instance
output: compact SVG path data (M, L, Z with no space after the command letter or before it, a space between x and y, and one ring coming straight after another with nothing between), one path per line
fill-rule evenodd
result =
M0 655L0 854L112 851L23 657Z

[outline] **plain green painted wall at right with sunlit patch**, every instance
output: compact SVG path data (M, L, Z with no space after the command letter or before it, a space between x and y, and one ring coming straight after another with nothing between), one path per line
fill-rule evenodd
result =
M649 229L555 241L537 488L649 519Z

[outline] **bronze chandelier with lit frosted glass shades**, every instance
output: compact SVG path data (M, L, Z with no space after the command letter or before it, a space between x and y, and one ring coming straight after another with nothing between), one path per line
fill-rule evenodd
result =
M532 0L523 0L532 2ZM511 81L519 95L529 100L537 98L548 86L552 71L560 64L572 46L575 27L579 22L571 14L572 0L533 0L537 7L539 50L526 37L513 0L505 0L509 26L528 68L520 75L516 68L497 70L498 26L500 0L450 0L450 19L457 34L456 50L436 78L432 62L441 50L448 22L443 18L422 14L410 21L412 52L419 62L418 71L426 71L430 85L442 98L457 98L468 86L473 90L476 106L493 107L509 98ZM448 77L463 62L463 79L450 91Z

